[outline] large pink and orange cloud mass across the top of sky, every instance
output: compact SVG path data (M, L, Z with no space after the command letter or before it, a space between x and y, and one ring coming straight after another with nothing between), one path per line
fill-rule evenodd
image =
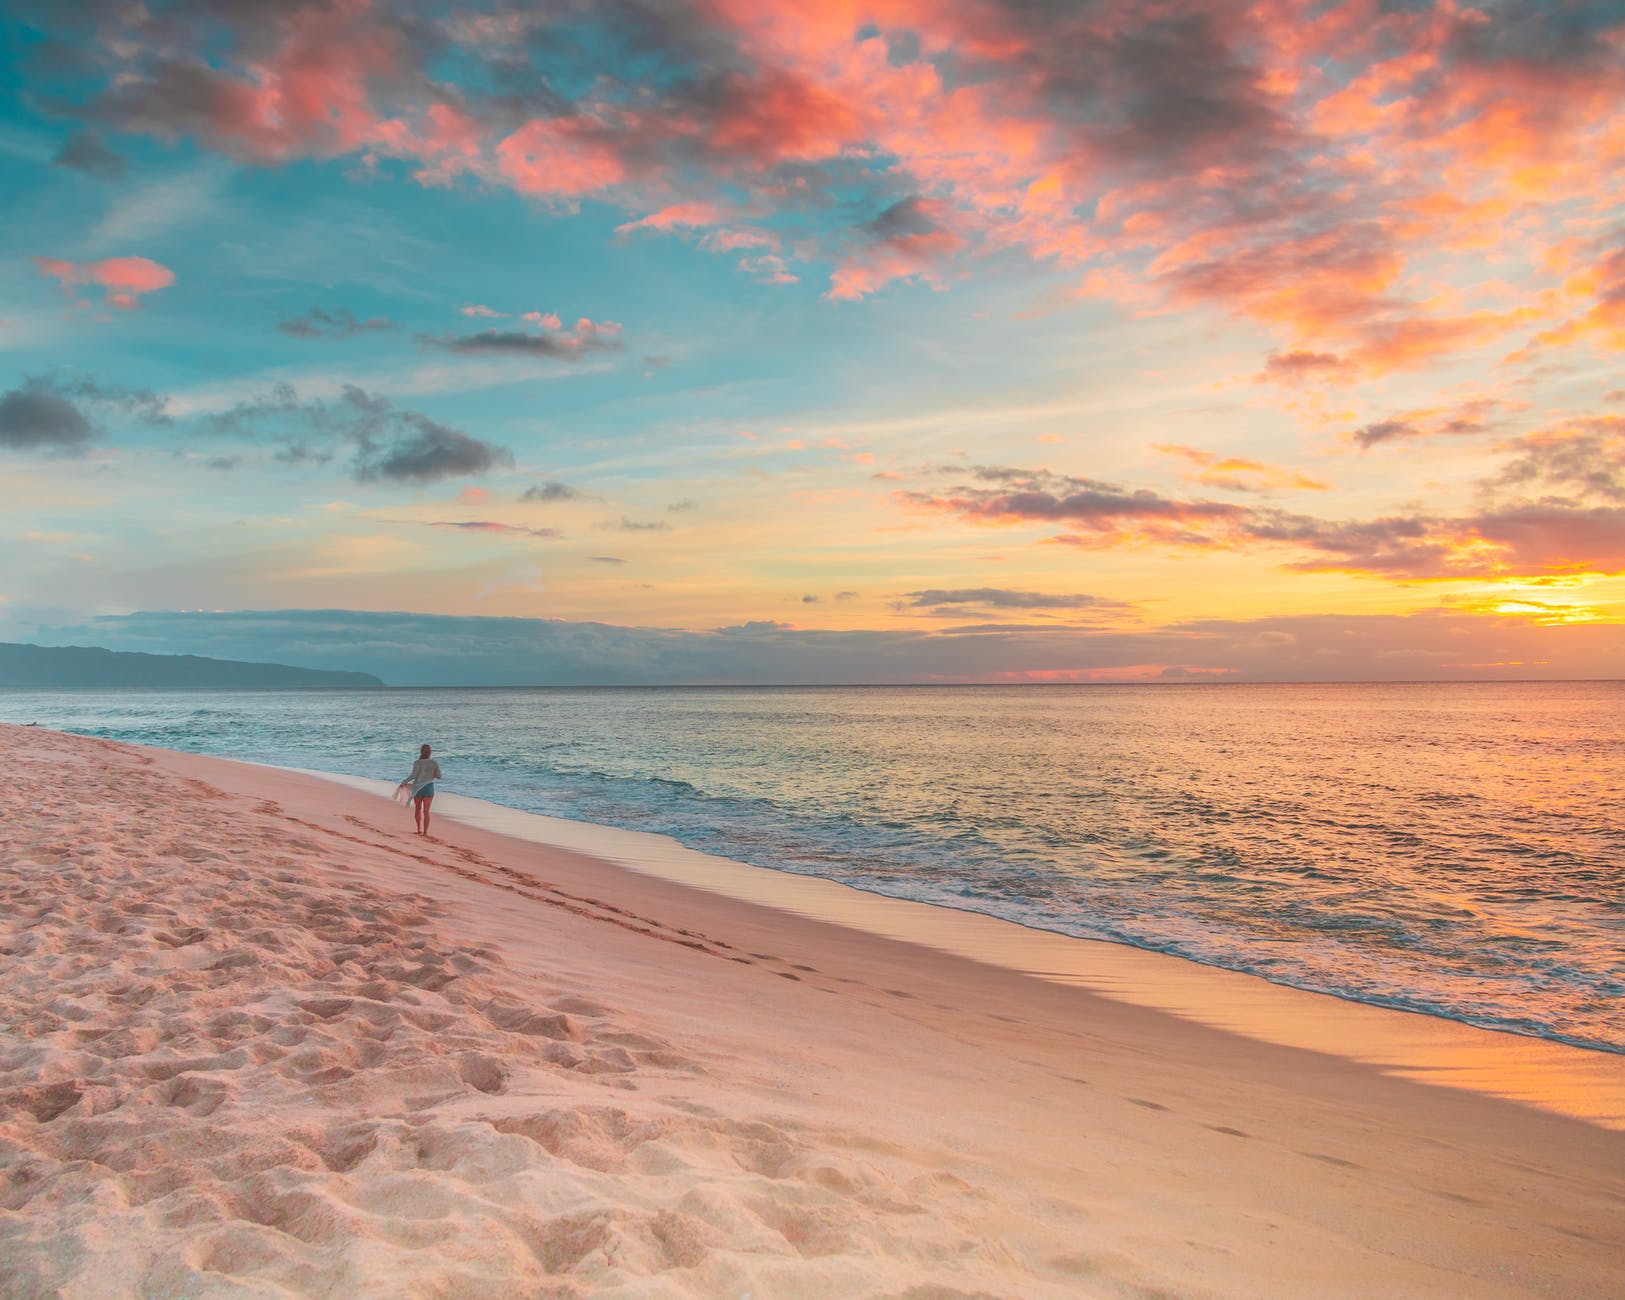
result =
M395 6L219 8L223 39L197 44L221 50L210 63L177 57L145 6L117 6L96 114L257 161L400 158L426 185L468 176L645 213L621 234L710 229L725 210L800 218L873 182L913 195L930 228L798 245L835 255L832 299L1016 250L1133 310L1246 318L1303 362L1266 364L1289 382L1521 330L1542 346L1622 333L1618 294L1586 296L1578 271L1539 265L1519 310L1441 292L1451 258L1514 239L1537 260L1614 219L1625 26L1563 6L707 0L661 50L679 76L629 86L587 67L574 102L530 120L489 89L494 60L546 86L530 42L593 6L457 16L432 68ZM696 197L658 206L671 195ZM710 229L702 245L791 278L769 232Z

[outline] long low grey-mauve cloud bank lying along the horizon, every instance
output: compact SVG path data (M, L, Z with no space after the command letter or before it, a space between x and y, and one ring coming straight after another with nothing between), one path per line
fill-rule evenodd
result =
M392 686L1508 681L1625 676L1625 627L1458 611L1202 619L1136 630L708 630L353 609L135 613L3 639L372 673ZM21 629L16 630L16 629Z

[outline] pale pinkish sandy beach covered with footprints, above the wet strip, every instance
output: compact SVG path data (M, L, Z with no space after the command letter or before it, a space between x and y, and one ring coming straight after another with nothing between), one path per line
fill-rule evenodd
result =
M0 1295L1625 1295L1618 1131L0 739Z

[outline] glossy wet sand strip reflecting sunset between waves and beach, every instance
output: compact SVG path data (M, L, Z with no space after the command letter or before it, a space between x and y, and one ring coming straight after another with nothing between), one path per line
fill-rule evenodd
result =
M265 767L377 796L392 790L388 782L369 777ZM1180 954L754 866L689 848L660 832L552 817L452 793L436 800L436 817L442 816L733 900L1076 985L1277 1046L1329 1053L1398 1077L1524 1102L1625 1131L1625 1053L1609 1048L1367 1003Z

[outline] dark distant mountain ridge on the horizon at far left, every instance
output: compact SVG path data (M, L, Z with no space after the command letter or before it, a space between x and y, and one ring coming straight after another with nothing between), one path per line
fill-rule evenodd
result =
M0 687L8 686L156 686L171 691L221 687L380 687L370 673L291 668L286 663L206 660L198 655L143 655L91 645L16 645L0 642Z

